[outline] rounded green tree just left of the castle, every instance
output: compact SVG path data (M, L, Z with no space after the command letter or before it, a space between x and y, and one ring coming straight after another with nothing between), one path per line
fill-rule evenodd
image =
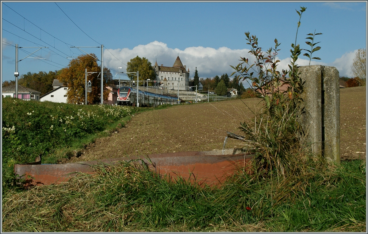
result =
M149 62L146 58L137 57L130 59L130 62L127 62L127 72L138 72L139 71L139 80L145 81L147 79L155 80L156 73L152 67L151 62ZM132 74L128 74L130 80L137 81L137 76Z

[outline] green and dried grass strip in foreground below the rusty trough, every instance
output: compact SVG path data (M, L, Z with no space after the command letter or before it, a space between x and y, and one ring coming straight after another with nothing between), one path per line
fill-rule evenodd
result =
M312 164L311 164L312 165ZM315 165L313 165L315 166ZM365 231L365 162L222 188L171 182L139 161L3 197L4 231ZM251 208L250 210L247 209ZM27 220L24 222L24 220Z

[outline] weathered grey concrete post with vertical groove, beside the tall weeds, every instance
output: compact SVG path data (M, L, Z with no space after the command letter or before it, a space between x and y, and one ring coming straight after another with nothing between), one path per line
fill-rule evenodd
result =
M305 113L301 116L306 137L314 154L340 163L340 90L336 67L301 66L300 78L305 81Z

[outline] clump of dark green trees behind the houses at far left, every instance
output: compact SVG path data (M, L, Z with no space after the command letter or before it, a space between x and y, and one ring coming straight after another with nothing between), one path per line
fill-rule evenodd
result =
M34 89L36 91L41 92L41 95L44 95L50 91L52 91L52 83L54 79L57 78L57 71L49 73L47 72L39 72L39 73L31 73L28 72L25 75L21 75L21 78L18 80L18 84L27 88Z

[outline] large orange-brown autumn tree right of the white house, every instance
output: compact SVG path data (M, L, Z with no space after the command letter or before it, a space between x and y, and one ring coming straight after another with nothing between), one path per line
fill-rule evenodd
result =
M92 83L92 91L87 94L88 103L99 103L101 100L101 67L97 64L95 54L80 55L78 58L72 59L68 67L61 69L58 76L59 81L68 87L67 102L81 104L85 99L85 69L87 72L96 72L88 76L87 80ZM105 72L106 71L106 72ZM104 68L103 80L104 84L112 79L109 69ZM109 89L104 88L103 100L109 97Z

